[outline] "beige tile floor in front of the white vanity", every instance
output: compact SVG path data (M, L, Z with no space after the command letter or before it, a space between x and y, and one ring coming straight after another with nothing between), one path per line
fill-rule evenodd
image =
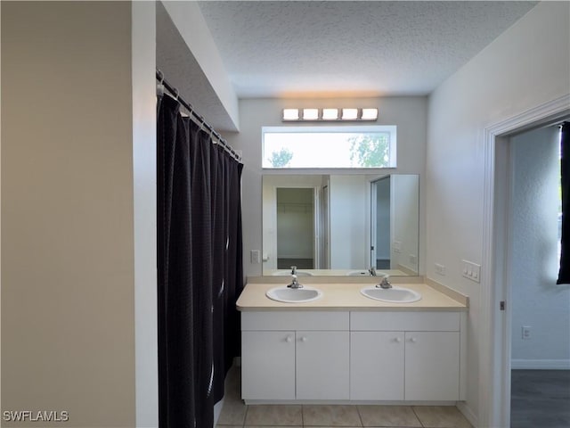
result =
M239 367L228 374L217 428L405 427L471 428L456 407L356 405L250 405L240 399Z

